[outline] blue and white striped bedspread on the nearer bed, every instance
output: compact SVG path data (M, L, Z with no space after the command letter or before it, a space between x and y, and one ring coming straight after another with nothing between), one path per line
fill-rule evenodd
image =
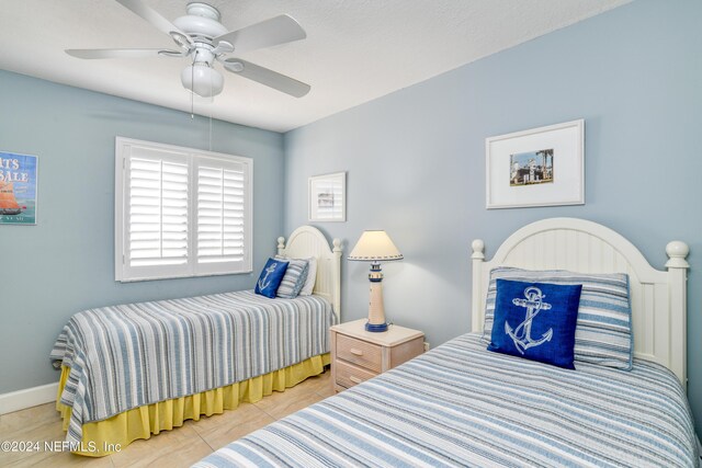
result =
M666 368L567 370L466 334L253 432L195 465L693 467L687 399Z

